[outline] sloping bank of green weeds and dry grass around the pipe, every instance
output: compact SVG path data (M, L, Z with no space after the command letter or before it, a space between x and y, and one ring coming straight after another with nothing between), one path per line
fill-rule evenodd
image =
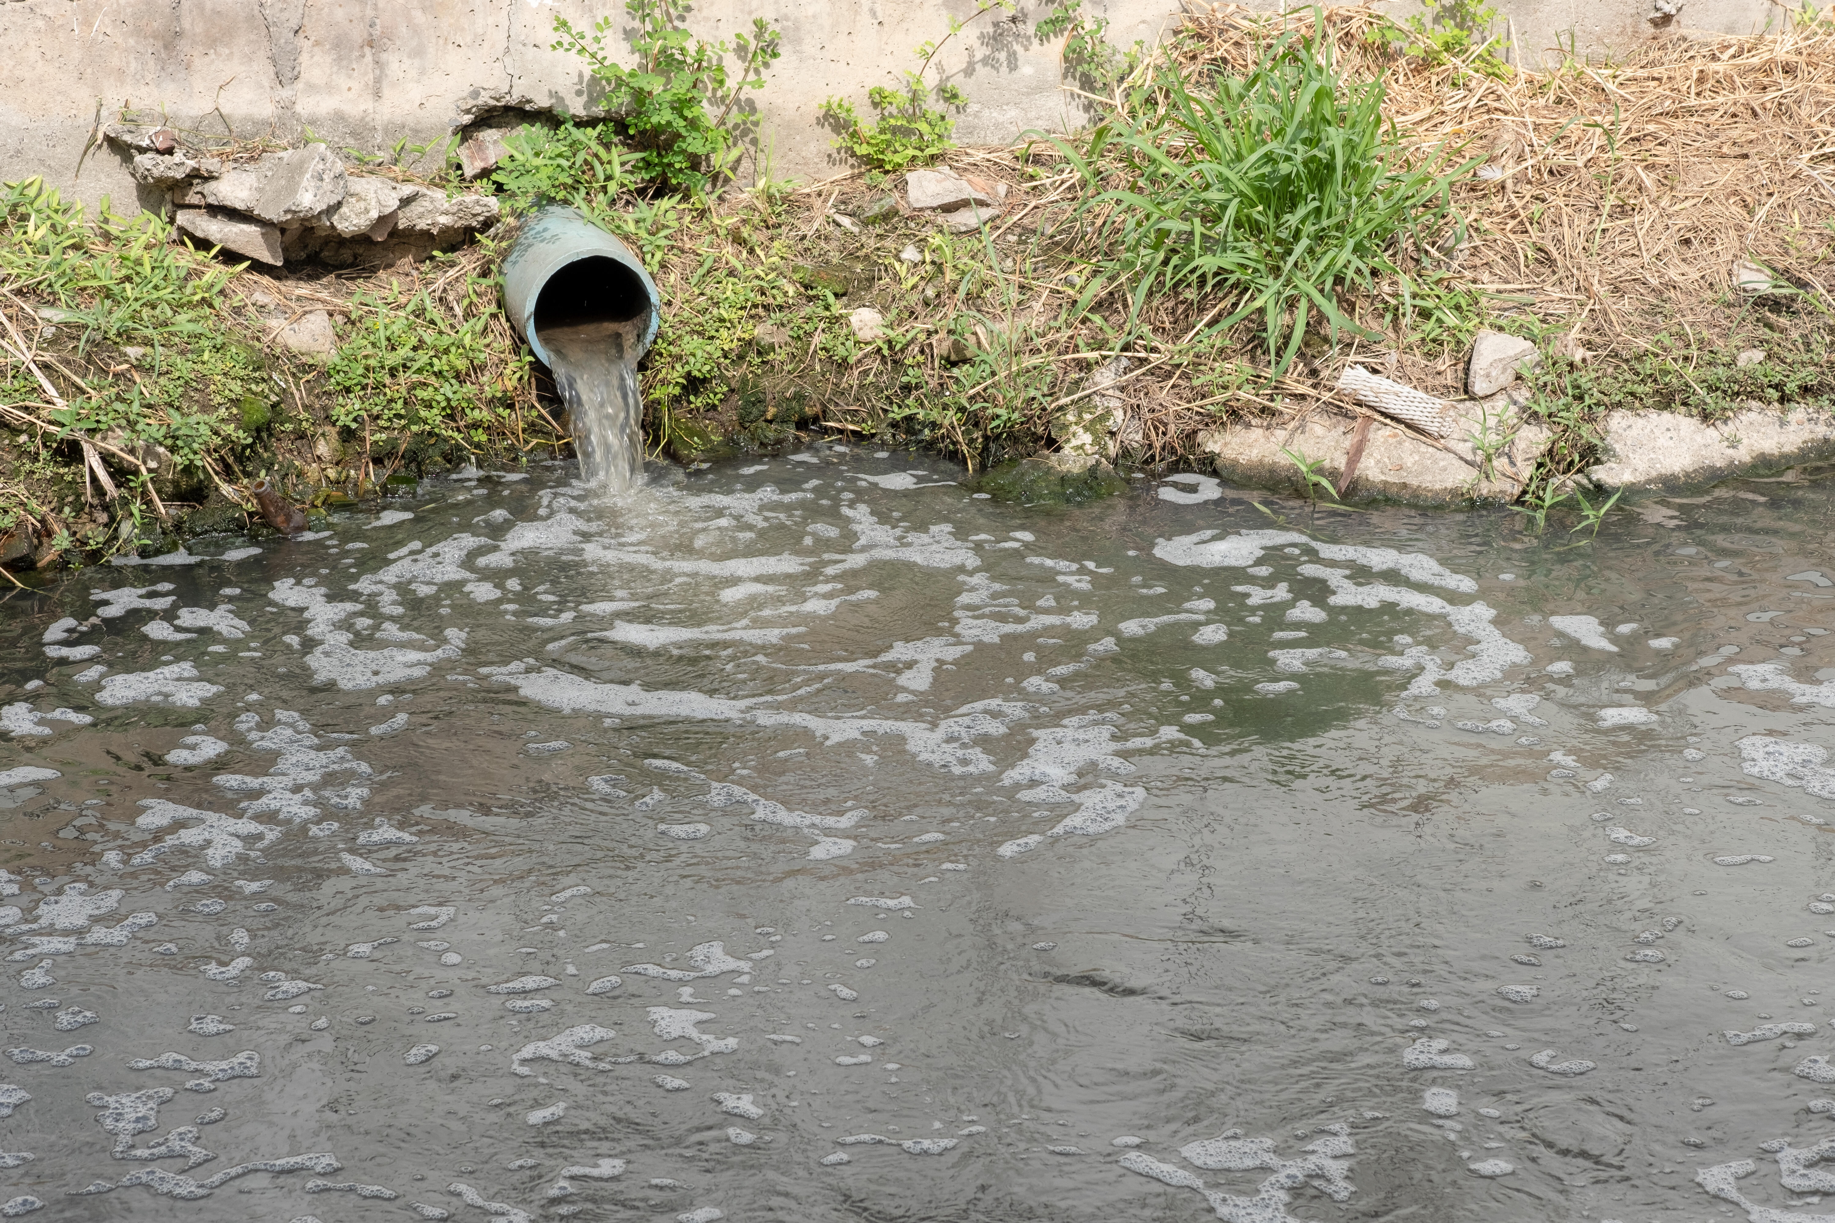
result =
M673 194L617 123L567 117L505 139L483 183L508 220L391 266L262 273L11 183L0 563L242 528L262 477L336 504L565 453L497 304L541 200L655 271L646 431L677 460L818 431L976 469L1061 447L1191 462L1233 422L1356 411L1351 363L1457 398L1481 328L1549 354L1525 411L1558 444L1525 499L1596 460L1607 407L1835 398L1829 22L1545 72L1510 68L1508 39L1420 35L1218 6L1101 72L1066 62L1083 132L936 150L982 200L967 226L866 165ZM314 312L332 354L277 343Z

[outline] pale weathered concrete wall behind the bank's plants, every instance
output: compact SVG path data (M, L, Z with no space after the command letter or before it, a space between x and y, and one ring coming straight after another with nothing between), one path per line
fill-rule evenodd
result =
M1505 0L1525 62L1558 44L1622 50L1653 35L1652 0ZM1116 42L1154 40L1178 0L1086 0L1110 17ZM1413 9L1406 0L1395 7ZM1059 88L1057 48L1033 24L989 13L940 57L974 105L965 143L1007 141L1026 128L1064 128L1083 114ZM552 20L576 26L617 13L618 0L0 0L6 90L0 90L0 180L42 174L94 204L136 198L112 149L79 156L97 112L163 112L213 136L297 139L310 128L334 147L387 150L422 143L494 108L591 112L580 61L552 51ZM945 13L973 0L703 0L690 26L730 37L754 17L780 18L784 59L756 103L771 169L817 180L846 169L818 125L824 97L864 110L866 90L916 64L912 48L947 31ZM1771 0L1688 0L1677 28L1749 33L1780 22ZM622 39L615 39L622 50ZM150 196L149 196L150 200Z

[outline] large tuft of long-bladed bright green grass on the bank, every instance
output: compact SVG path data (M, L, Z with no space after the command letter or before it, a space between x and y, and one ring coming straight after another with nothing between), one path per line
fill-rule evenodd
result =
M1099 275L1084 301L1125 288L1138 315L1160 293L1224 295L1215 328L1259 319L1275 376L1314 315L1334 339L1371 334L1340 295L1404 277L1404 244L1428 251L1457 227L1448 189L1475 163L1409 165L1382 83L1343 79L1323 28L1209 88L1167 72L1154 116L1112 117L1083 150L1057 141L1090 187L1079 216Z

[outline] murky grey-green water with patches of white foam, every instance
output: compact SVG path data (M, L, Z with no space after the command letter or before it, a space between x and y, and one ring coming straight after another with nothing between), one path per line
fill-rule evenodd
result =
M1563 550L952 479L0 603L0 1214L1817 1217L1826 484Z

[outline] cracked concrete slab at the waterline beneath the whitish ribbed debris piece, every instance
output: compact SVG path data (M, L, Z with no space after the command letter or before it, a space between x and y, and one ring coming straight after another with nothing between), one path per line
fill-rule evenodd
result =
M1501 400L1501 396L1499 396ZM1400 427L1371 422L1363 458L1345 501L1402 501L1424 506L1451 506L1472 501L1514 501L1523 477L1534 466L1549 431L1536 422L1519 422L1507 402L1486 403L1490 429L1516 436L1496 457L1490 477L1483 477L1477 449L1468 435L1481 435L1477 403L1451 405L1457 424L1444 447L1429 446ZM1314 413L1297 425L1237 425L1202 435L1200 447L1213 457L1217 475L1231 484L1305 491L1299 468L1281 453L1290 449L1310 460L1325 460L1319 475L1336 488L1351 453L1356 418Z

